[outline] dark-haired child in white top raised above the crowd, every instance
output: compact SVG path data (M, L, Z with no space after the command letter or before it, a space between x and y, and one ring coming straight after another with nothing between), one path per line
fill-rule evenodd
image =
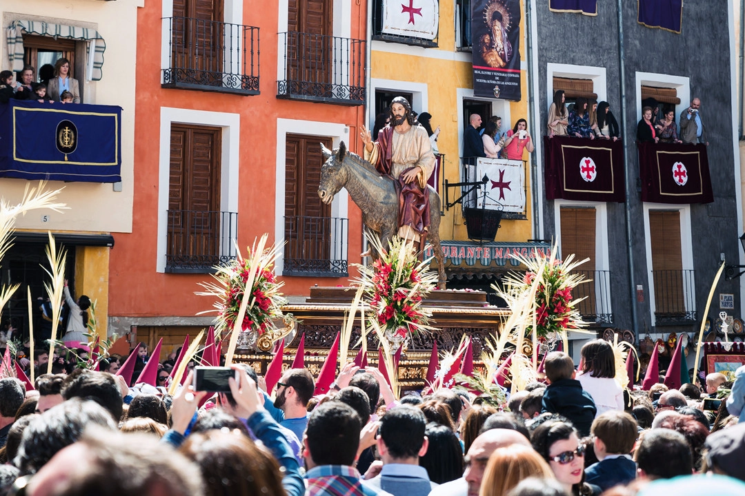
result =
M615 380L615 355L608 341L594 339L582 347L577 381L595 401L595 418L608 410L624 410L624 390Z

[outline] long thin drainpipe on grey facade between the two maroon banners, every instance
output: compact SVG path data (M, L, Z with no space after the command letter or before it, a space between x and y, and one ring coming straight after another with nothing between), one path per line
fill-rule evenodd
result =
M631 297L631 318L634 331L635 342L639 342L639 325L637 321L637 305L636 301L636 283L634 278L634 251L633 244L631 242L631 234L633 228L631 225L631 205L630 205L630 187L631 182L631 171L629 169L629 161L627 158L627 115L626 115L626 65L624 64L624 13L621 0L618 0L618 77L621 80L621 142L624 145L624 181L626 181L626 243L627 251L629 253L629 286L630 286L630 297Z

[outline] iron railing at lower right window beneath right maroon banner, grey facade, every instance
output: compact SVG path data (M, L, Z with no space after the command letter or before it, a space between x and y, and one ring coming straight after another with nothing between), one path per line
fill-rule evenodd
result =
M652 271L656 323L696 321L694 271Z

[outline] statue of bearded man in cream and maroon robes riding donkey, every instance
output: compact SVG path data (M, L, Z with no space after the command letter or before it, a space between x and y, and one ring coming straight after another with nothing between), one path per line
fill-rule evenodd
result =
M390 114L391 122L378 132L378 141L373 142L370 130L362 126L364 158L401 185L399 237L423 242L429 225L427 179L435 163L432 146L425 129L414 120L408 100L394 98Z

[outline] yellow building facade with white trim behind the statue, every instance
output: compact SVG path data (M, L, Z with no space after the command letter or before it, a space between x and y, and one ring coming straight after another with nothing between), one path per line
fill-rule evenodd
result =
M375 0L371 0L375 1ZM379 1L379 0L378 0ZM399 4L401 2L398 2ZM370 126L374 124L375 114L381 112L381 95L410 95L415 112L428 112L432 115L431 126L440 126L437 146L444 155L441 162L440 196L445 204L443 176L450 183L463 181L461 178L460 155L463 153L463 133L466 129L470 106L490 109L491 115L502 118L500 132L512 129L516 121L526 118L530 122L528 109L528 80L526 62L526 30L524 2L521 1L519 52L521 57L520 84L522 99L508 101L475 97L473 91L472 53L463 47L463 4L467 1L440 1L440 22L436 47L409 45L408 40L392 41L375 30L375 16L371 19L373 36L371 42L371 82ZM376 36L377 35L377 36ZM386 38L383 41L381 38ZM377 108L375 103L378 104ZM489 115L483 115L484 124ZM529 129L533 129L532 126ZM531 132L531 135L533 133ZM539 134L539 133L536 133ZM533 138L536 139L535 137ZM537 145L536 145L537 146ZM533 212L531 202L530 170L531 156L524 152L526 211L527 219L502 219L495 241L526 242L538 236L533 234ZM448 199L452 202L460 196L460 188L451 187ZM468 239L466 225L460 204L445 209L440 224L440 238L443 240Z

